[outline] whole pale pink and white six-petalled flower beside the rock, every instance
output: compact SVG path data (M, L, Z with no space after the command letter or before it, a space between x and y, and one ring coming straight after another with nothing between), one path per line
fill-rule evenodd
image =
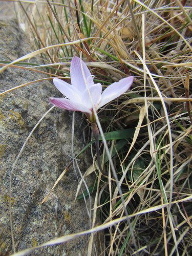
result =
M91 122L95 121L92 102L96 111L106 103L119 97L129 90L133 83L133 76L123 78L118 82L112 83L102 92L100 83L94 84L86 64L78 57L74 56L70 67L71 84L54 78L56 88L67 97L49 98L50 102L61 109L84 112ZM90 99L90 94L92 102Z

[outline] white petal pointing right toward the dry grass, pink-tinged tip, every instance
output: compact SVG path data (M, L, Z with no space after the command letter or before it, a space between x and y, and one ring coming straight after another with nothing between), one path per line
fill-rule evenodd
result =
M112 83L108 88L106 88L101 94L101 101L98 108L105 105L106 103L116 99L121 94L129 90L133 83L133 76L123 78L119 82Z

